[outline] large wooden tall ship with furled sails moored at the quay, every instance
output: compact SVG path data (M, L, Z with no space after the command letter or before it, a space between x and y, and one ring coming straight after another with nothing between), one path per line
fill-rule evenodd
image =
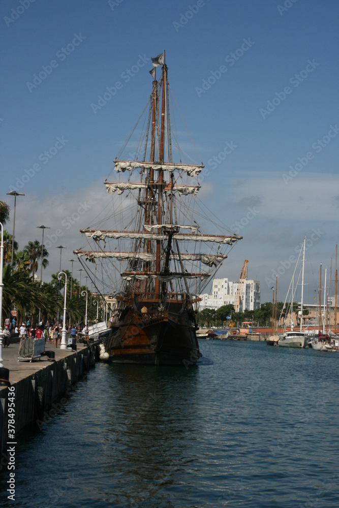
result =
M242 237L198 200L204 166L180 148L170 123L175 99L165 53L152 62L149 101L114 160L118 181L105 181L113 211L105 212L101 224L80 230L87 249L74 253L83 266L84 260L102 262L91 272L85 269L94 282L102 273L101 291L116 298L105 343L110 360L187 366L202 356L198 295L227 258L226 250ZM189 133L184 137L187 145Z

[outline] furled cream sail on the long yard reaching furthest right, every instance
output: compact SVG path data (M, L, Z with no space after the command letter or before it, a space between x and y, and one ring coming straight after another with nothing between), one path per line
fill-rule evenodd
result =
M105 240L106 238L130 238L140 240L167 240L168 236L162 233L143 233L142 231L99 231L99 230L80 230L80 233L85 233L87 238L94 238L96 241ZM216 242L222 244L232 245L241 236L218 236L218 235L193 235L184 233L174 233L175 240L186 240L194 242Z

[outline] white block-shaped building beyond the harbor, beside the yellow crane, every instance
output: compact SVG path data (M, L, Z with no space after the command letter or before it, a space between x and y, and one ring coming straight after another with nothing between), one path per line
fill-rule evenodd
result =
M233 304L238 287L238 281L231 282L228 278L213 279L211 295L199 295L202 299L199 310L219 309L223 305ZM260 308L260 282L245 280L242 285L239 312Z

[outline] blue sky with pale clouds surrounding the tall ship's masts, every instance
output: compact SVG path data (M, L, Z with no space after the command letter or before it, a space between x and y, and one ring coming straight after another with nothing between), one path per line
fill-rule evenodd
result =
M236 280L248 259L261 301L271 300L274 271L313 235L305 289L313 303L319 264L329 270L338 238L338 13L334 0L2 2L0 199L12 206L6 192L21 181L20 248L40 240L38 225L59 232L44 279L58 269L54 247L67 246L71 259L79 229L107 201L102 182L151 90L147 59L165 49L208 170L202 199L227 226L241 226L218 276ZM280 274L281 300L292 271Z

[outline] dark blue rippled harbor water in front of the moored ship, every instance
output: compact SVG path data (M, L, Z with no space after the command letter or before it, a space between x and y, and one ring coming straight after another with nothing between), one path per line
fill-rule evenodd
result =
M97 364L18 438L0 505L336 508L339 353L199 344L188 368Z

